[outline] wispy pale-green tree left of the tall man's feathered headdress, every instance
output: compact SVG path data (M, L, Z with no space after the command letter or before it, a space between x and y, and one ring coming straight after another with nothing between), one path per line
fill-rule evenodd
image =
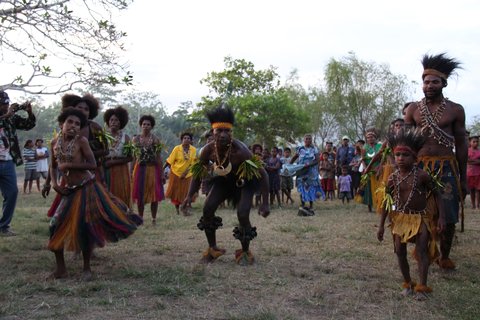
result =
M352 128L357 138L369 127L385 133L390 121L401 114L410 90L404 75L393 74L385 64L361 61L354 53L332 58L325 80L339 129L349 132Z

